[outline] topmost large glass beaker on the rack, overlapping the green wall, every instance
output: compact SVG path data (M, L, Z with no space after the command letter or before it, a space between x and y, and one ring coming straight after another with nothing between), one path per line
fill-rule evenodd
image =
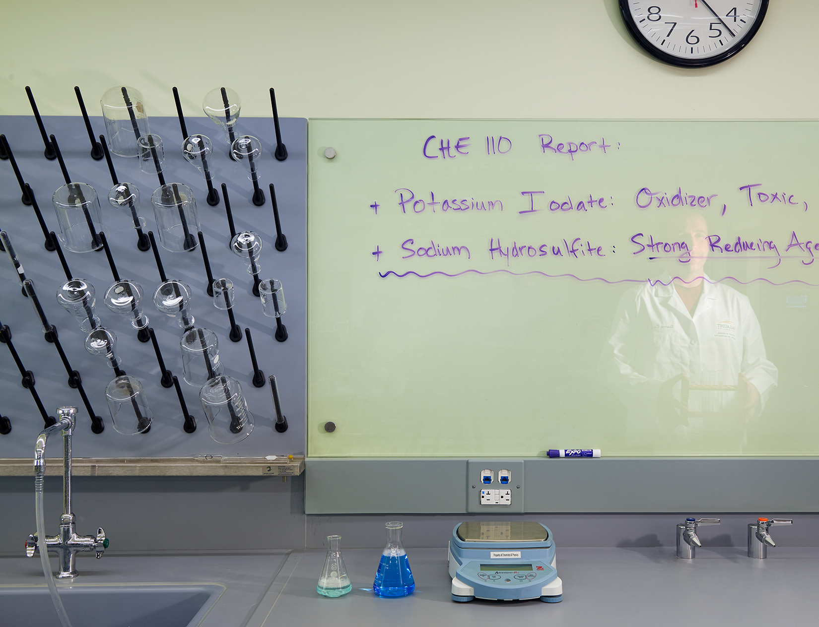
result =
M112 87L102 94L100 106L111 152L138 156L137 139L151 132L142 93L133 87Z

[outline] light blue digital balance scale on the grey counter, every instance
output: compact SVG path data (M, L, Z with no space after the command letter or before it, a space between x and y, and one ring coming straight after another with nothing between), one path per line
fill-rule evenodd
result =
M462 522L447 564L453 601L563 601L552 532L539 522Z

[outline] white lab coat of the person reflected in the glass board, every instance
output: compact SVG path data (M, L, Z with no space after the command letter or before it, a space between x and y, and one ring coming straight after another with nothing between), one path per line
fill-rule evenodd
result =
M627 291L597 368L627 404L627 444L648 449L685 446L709 431L722 438L726 430L744 424L744 418L731 422L737 409L732 391L690 391L690 413L716 415L688 417L679 408L658 413L663 382L682 375L693 385L736 386L742 372L758 390L763 408L778 377L748 297L707 276L693 316L667 275ZM672 397L681 400L681 382L673 386ZM734 435L734 444L742 444L744 431Z

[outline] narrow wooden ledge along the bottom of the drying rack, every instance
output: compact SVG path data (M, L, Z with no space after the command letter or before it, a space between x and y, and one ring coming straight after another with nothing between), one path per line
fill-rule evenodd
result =
M297 476L305 458L75 458L73 476ZM46 459L46 476L62 475L62 459ZM32 459L0 458L0 476L34 476Z

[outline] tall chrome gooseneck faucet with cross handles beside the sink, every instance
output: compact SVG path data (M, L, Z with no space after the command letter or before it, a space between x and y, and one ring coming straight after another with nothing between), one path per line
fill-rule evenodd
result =
M97 529L97 535L77 535L74 529L75 517L71 512L71 435L74 433L77 408L57 408L57 424L44 429L37 437L34 447L34 472L45 472L46 438L56 431L62 431L62 516L60 517L60 533L46 536L48 551L60 556L59 579L69 579L77 576L75 568L78 551L96 551L97 558L108 547L108 539L102 527ZM34 557L39 554L37 535L29 535L25 541L25 554Z

